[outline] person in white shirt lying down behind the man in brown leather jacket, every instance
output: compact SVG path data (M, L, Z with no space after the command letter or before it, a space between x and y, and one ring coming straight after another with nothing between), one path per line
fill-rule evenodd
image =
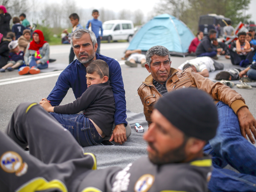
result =
M195 59L187 60L185 63L182 63L177 70L181 72L187 67L191 67L196 73L204 77L208 77L209 72L222 70L224 68L224 64L219 63L211 57L196 57Z

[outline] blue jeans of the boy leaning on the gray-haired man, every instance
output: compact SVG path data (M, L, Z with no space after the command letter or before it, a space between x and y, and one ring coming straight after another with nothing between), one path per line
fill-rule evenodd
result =
M97 129L89 118L85 117L83 113L80 114L50 114L56 118L57 121L74 136L82 147L94 146L103 141Z

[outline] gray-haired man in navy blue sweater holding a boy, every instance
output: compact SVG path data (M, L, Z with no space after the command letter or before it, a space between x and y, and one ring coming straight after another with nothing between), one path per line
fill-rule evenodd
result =
M114 114L116 127L113 130L110 141L114 139L116 143L124 143L131 134L131 128L129 125L127 126L127 121L125 120L127 117L126 101L120 64L110 57L96 53L98 48L97 38L92 31L86 29L75 31L71 34L71 45L77 59L61 72L55 87L47 99L52 106L60 105L69 88L72 88L75 98L79 98L87 89L86 67L96 59L105 61L109 66L109 80L116 103L116 112Z

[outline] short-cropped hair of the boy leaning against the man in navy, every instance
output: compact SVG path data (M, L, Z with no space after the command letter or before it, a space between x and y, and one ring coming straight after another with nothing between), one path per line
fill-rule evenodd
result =
M96 72L100 78L103 78L103 76L107 76L109 78L109 66L108 64L100 59L92 61L87 67L86 67L87 74L93 74Z

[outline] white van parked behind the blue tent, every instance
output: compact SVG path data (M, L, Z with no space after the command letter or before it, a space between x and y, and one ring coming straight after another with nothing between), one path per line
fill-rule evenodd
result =
M103 23L102 41L127 40L131 41L134 27L131 20L109 20Z

